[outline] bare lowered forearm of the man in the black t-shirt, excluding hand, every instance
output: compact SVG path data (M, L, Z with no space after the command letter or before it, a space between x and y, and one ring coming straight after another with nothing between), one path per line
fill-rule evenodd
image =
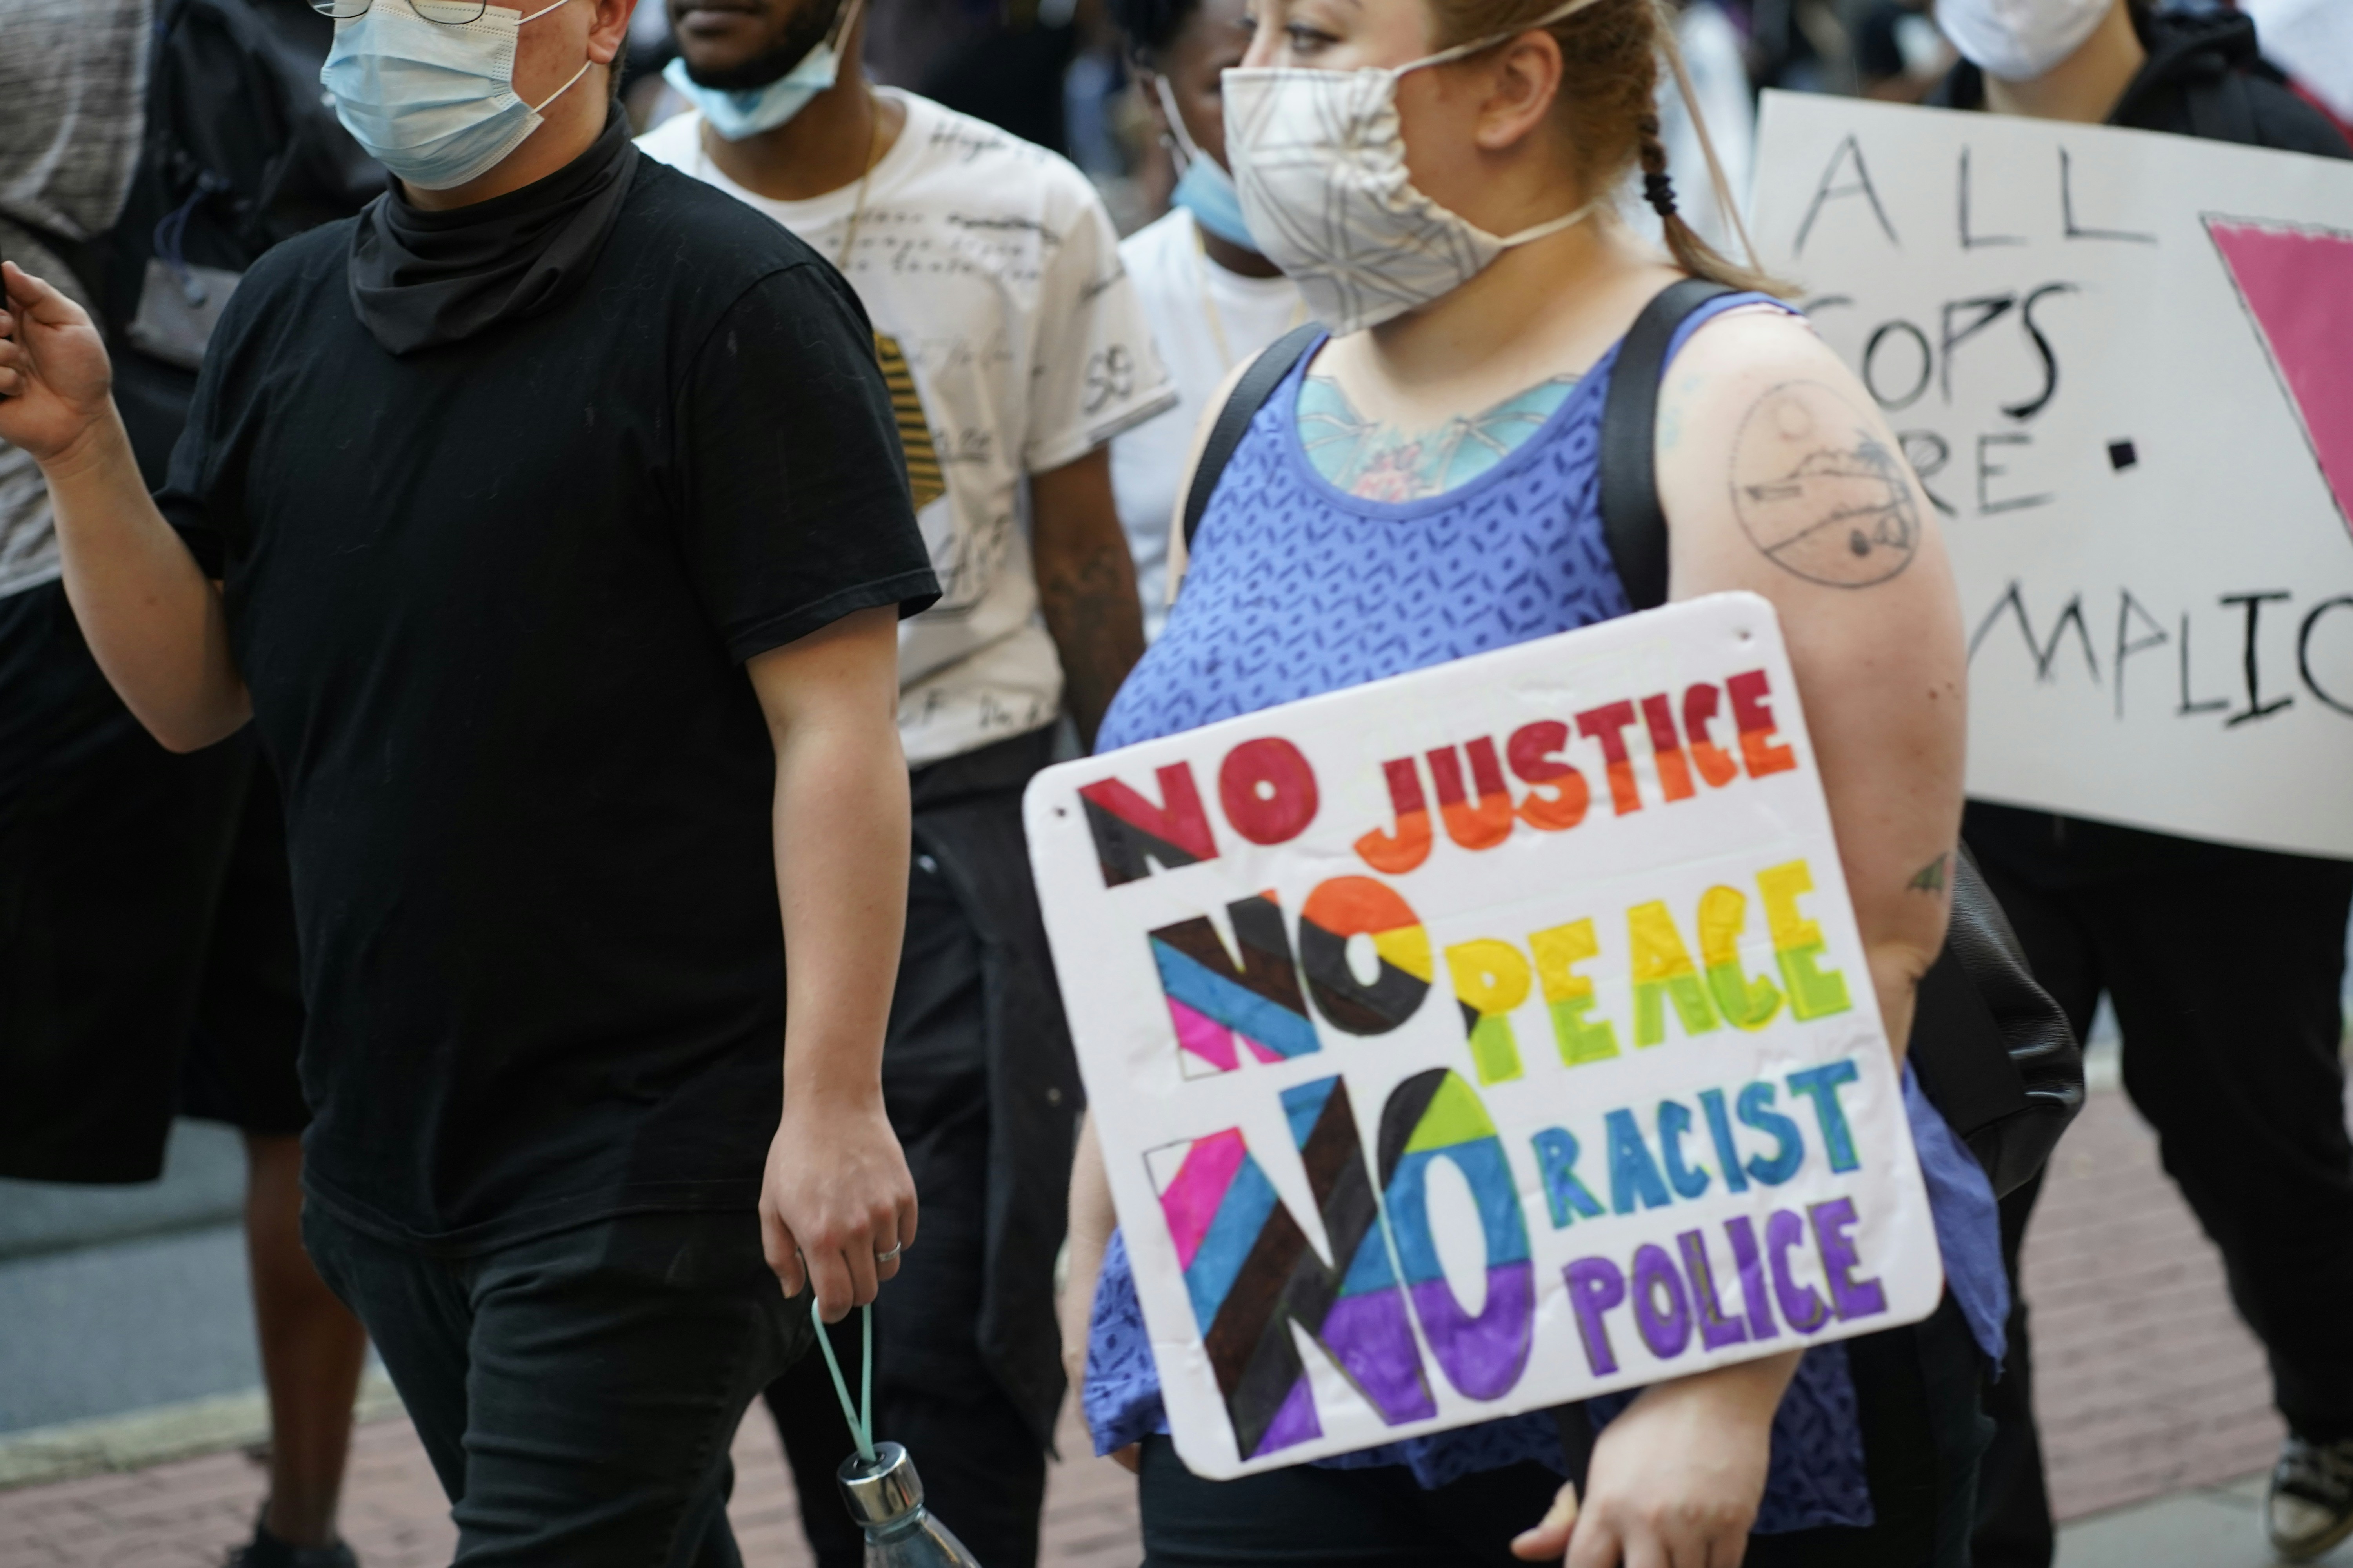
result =
M878 1105L906 929L908 792L889 712L835 712L776 745L788 1107Z

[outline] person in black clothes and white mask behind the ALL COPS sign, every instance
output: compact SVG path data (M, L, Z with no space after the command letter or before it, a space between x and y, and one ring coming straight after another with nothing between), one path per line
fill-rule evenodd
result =
M1937 0L1960 63L1939 108L2122 125L2353 158L2297 99L2233 12L2141 0ZM2125 1032L2125 1093L2158 1128L2165 1171L2221 1248L2231 1300L2271 1356L2287 1441L2266 1530L2289 1561L2353 1535L2353 1140L2346 1138L2341 985L2353 863L2207 844L2052 811L1969 802L1962 837L2033 964L2082 1037L2101 994ZM2221 945L2174 959L2195 919ZM2261 966L2259 987L2228 973ZM2012 1281L2038 1175L2002 1199ZM2057 1549L2033 1415L2026 1302L1988 1399L1977 1568L2049 1568Z

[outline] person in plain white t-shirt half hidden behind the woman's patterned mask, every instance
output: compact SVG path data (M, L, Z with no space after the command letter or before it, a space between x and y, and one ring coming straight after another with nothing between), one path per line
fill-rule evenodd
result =
M1219 73L1240 66L1249 47L1245 12L1245 0L1111 0L1144 101L1179 165L1167 216L1120 242L1176 383L1174 416L1111 444L1146 639L1167 621L1169 517L1205 404L1226 371L1308 320L1299 289L1249 237L1226 172Z

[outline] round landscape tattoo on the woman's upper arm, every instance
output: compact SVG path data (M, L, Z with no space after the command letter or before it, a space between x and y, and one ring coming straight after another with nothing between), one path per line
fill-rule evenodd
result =
M1784 381L1741 418L1732 510L1765 559L1826 588L1885 583L1920 550L1911 470L1819 381Z

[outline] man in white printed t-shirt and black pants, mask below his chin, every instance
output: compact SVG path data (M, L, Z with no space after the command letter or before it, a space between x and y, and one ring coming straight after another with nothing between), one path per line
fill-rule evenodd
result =
M875 1305L873 1429L991 1568L1038 1554L1064 1380L1054 1253L1080 1084L1021 839L1068 712L1082 745L1144 651L1113 435L1176 395L1066 160L868 87L859 0L668 0L696 108L640 148L769 214L873 320L941 581L901 623L915 865L882 1093L922 1237ZM835 1340L856 1378L854 1328ZM819 1563L861 1561L821 1361L769 1389Z

